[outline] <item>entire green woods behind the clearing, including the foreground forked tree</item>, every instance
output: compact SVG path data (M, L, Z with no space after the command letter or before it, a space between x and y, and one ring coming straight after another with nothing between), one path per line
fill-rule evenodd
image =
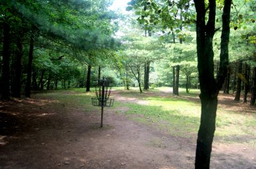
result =
M195 168L210 168L219 94L255 107L256 3L131 0L126 14L112 4L1 1L1 99L90 94L100 78L140 94L172 87L171 98L200 89Z

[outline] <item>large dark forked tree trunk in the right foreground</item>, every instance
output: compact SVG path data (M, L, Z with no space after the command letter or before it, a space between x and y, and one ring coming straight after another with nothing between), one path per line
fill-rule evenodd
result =
M196 142L196 169L210 167L212 140L216 125L218 92L227 74L228 41L230 33L231 0L225 0L222 15L220 69L214 79L214 52L212 39L215 33L216 1L209 1L209 18L205 26L205 2L194 0L196 7L196 47L200 80L201 120Z

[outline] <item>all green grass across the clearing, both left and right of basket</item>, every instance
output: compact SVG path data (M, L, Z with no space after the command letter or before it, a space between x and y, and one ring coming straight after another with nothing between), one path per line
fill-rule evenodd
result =
M116 114L124 114L121 111L122 107L127 107L125 114L132 121L162 129L173 136L196 138L201 108L198 90L191 90L190 94L186 94L185 89L180 89L180 96L173 97L171 93L168 94L170 87L159 87L142 94L137 88L130 91L125 91L121 87L114 89L123 97L147 102L147 105L139 105L115 101L113 110ZM163 91L167 92L164 96L161 95ZM64 103L70 108L80 108L84 113L100 113L99 107L92 106L91 98L95 97L95 93L85 92L85 89L58 90L34 96L37 95L40 98L51 98L56 103ZM256 146L256 109L252 113L246 113L218 108L214 139L215 142L250 143Z

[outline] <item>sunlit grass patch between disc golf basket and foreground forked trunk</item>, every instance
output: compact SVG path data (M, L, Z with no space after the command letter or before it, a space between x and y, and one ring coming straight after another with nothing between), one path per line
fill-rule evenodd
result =
M142 117L132 119L145 124L152 124L175 136L193 135L196 133L199 118L189 115L180 115L178 110L164 110L159 106L137 105L125 103L129 110L125 112L128 115L141 114Z

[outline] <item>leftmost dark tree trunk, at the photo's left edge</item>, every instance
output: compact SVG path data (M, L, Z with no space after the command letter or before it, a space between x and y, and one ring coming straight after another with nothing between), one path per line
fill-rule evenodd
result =
M3 88L2 98L9 99L10 96L10 25L4 23L3 38Z

